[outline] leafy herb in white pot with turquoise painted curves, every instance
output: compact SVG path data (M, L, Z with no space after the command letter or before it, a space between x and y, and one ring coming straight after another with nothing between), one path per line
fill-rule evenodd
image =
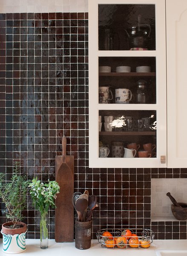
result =
M2 225L3 251L21 253L26 249L25 236L27 225L22 221L22 211L26 208L28 181L26 175L20 175L20 162L14 162L10 181L0 173L0 198L6 207L9 222Z

